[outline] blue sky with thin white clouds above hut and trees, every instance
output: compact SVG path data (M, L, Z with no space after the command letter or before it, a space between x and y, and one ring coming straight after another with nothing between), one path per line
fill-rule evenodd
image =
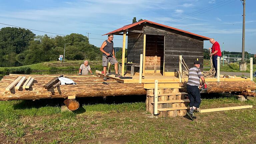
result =
M214 38L221 51L242 51L243 5L240 0L0 0L0 28L8 25L31 30L36 35L89 34L97 47L105 33L147 19L202 36ZM246 0L245 51L256 53L256 1ZM8 25L4 25L8 24ZM45 33L50 32L50 33ZM127 38L126 38L127 39ZM122 47L122 36L114 36ZM224 43L224 44L223 44ZM64 44L63 44L64 45ZM204 48L211 47L204 41ZM127 47L127 43L126 43Z

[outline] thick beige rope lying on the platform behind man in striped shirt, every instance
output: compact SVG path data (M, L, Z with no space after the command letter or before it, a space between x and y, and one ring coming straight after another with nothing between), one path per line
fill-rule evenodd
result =
M211 51L209 50L209 56L211 55ZM184 79L185 77L188 77L188 71L189 68L187 66L187 64L185 63L184 59L182 58L181 61L182 65L185 67L186 70L182 70L182 74L179 73L181 75L181 77ZM203 76L206 78L211 78L214 77L214 74L216 73L215 68L213 68L213 63L212 63L212 56L210 56L210 63L211 63L211 69L207 72L203 73ZM184 79L185 80L185 79Z

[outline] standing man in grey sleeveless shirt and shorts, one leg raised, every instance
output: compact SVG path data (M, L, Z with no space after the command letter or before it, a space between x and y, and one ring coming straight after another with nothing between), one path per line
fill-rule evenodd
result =
M108 39L105 40L100 47L100 51L103 53L102 54L102 66L103 66L103 73L104 73L103 80L105 80L105 81L107 80L106 71L107 71L108 62L110 62L111 65L115 65L115 72L116 72L115 77L121 77L121 75L118 73L118 69L117 69L118 62L115 57L114 43L112 41L113 38L114 38L113 34L109 34Z

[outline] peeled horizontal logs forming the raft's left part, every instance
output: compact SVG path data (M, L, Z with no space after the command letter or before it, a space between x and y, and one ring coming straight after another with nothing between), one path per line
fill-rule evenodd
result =
M28 90L5 88L10 85L17 77L31 76L34 82ZM102 77L97 76L77 76L66 75L72 79L77 85L59 85L56 88L50 87L45 89L43 86L59 75L16 75L10 74L4 76L0 81L0 100L21 100L21 99L43 99L43 98L67 98L69 95L76 97L96 97L96 96L121 96L121 95L146 95L143 84L137 83L120 83L115 80L108 79L109 85L102 84Z

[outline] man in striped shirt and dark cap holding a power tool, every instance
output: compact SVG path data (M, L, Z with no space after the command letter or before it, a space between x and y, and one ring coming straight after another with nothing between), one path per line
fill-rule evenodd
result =
M205 82L203 74L199 68L200 68L200 62L195 61L194 66L190 68L188 72L187 92L188 92L188 98L190 101L189 103L190 111L187 112L187 115L192 120L196 119L193 112L196 108L199 108L199 105L201 103L199 88L201 88ZM200 79L202 80L202 84L200 84Z

